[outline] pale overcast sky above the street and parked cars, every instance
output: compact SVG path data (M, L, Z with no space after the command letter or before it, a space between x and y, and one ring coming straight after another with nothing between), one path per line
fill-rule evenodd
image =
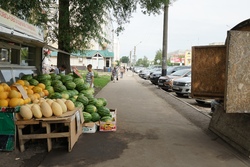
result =
M192 46L225 42L227 31L250 18L250 0L177 0L169 6L168 49L191 50ZM139 10L117 37L120 57L146 56L153 60L162 49L163 13L157 16L143 15Z

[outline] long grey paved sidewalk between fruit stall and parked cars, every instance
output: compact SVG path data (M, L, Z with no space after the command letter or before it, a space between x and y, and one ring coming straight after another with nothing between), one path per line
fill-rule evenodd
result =
M117 108L117 131L82 134L71 153L53 149L40 167L247 167L241 156L211 135L209 118L131 71L96 97ZM192 121L193 120L193 121Z

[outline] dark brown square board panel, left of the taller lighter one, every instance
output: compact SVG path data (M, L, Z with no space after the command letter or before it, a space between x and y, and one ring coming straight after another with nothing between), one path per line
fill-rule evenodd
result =
M193 98L223 98L226 75L226 45L192 47Z

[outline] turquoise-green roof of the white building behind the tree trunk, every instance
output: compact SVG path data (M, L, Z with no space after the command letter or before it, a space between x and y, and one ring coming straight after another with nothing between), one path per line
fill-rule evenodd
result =
M108 50L84 50L71 53L72 56L77 56L77 57L93 57L96 54L99 54L102 57L114 57L114 53ZM56 51L51 52L51 56L57 56Z

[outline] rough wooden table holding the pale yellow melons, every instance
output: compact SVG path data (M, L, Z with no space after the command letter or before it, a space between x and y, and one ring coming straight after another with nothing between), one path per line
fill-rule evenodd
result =
M68 111L61 117L41 118L32 120L17 120L16 122L20 151L25 150L25 142L30 139L47 139L48 152L52 149L52 138L68 138L68 151L71 152L74 144L82 134L83 115L82 109L77 108L74 111ZM45 133L37 133L33 126L40 125L45 129ZM62 127L63 125L63 127ZM24 128L30 127L30 133L23 133ZM66 131L60 131L60 128L68 127Z

